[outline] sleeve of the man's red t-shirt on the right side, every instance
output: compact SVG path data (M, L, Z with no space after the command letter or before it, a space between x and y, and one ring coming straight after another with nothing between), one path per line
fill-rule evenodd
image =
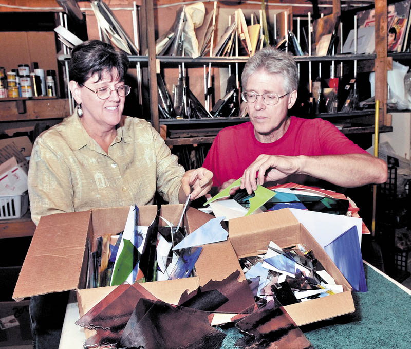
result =
M321 155L368 154L327 120L318 120Z

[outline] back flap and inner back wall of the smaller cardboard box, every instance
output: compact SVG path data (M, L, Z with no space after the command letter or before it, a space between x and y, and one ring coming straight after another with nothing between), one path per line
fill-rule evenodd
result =
M230 219L229 240L238 258L258 254L274 239L283 247L300 241L300 223L289 209Z

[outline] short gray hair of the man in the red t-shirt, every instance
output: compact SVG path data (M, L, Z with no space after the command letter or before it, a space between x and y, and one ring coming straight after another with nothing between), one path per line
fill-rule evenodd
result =
M278 51L274 47L265 47L257 51L247 61L241 75L241 85L245 89L250 75L257 70L265 70L270 74L280 74L284 78L285 93L298 88L298 69L292 54Z

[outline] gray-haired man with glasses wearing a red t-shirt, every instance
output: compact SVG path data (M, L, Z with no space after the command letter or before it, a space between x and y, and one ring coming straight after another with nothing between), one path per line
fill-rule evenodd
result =
M386 163L330 122L288 116L298 88L290 54L271 47L256 52L242 71L241 84L250 121L221 130L203 164L214 173L219 190L240 177L240 188L249 194L266 182L314 185L325 180L341 187L385 182Z

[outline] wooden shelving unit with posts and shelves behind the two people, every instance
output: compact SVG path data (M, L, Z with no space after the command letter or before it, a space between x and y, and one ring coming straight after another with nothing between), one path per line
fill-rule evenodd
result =
M295 0L295 2L298 2ZM130 2L131 3L131 2ZM159 130L160 125L166 125L167 127L185 127L190 123L191 127L197 127L200 130L197 136L183 137L183 138L168 138L166 143L173 145L182 144L201 144L201 143L211 143L214 139L214 135L201 135L204 128L211 129L213 132L221 128L222 125L235 124L238 122L248 121L248 118L218 118L218 119L201 119L201 120L162 120L159 119L158 108L157 108L157 69L158 65L167 65L167 67L177 67L179 64L184 62L186 67L199 67L204 64L212 63L213 67L226 67L229 64L238 63L239 65L244 65L247 61L247 57L231 57L231 58L221 58L221 57L199 57L192 59L190 57L165 57L155 55L155 21L154 21L154 8L153 2L149 0L142 0L139 2L141 5L141 19L142 23L145 24L144 32L146 35L142 35L141 46L142 48L148 49L147 56L129 56L130 63L137 64L140 63L141 67L148 68L147 75L147 86L148 95L151 102L151 121L153 126ZM240 6L240 5L239 5ZM333 12L341 13L341 1L333 0L332 2ZM387 2L384 0L375 1L376 8L376 53L364 56L363 54L338 54L335 56L300 56L295 57L297 62L324 62L324 61L353 61L353 60L372 60L375 63L376 72L376 99L380 100L380 122L379 129L380 132L391 131L391 119L390 115L387 114L387 78L386 71L390 67L390 60L392 58L398 59L409 59L411 54L408 53L395 53L387 54ZM60 55L58 57L60 62L68 61L69 56ZM21 113L23 110L23 104L26 108L26 113ZM35 122L43 120L52 120L53 122L58 122L65 116L69 114L69 101L67 99L49 99L49 98L33 98L28 100L23 99L13 99L13 100L3 100L1 101L0 107L0 126L5 124L12 124L14 127L16 125L33 124ZM328 114L328 115L318 115L316 117L327 118L327 119L337 119L341 117L368 117L369 119L373 116L373 111L362 111L356 113L350 113L350 115ZM56 121L57 120L57 121ZM194 128L195 130L195 128ZM195 133L195 131L192 130ZM373 125L352 125L347 129L342 130L346 134L371 134L374 132ZM27 213L21 219L10 219L6 221L0 221L0 238L12 237L12 236L29 236L34 232L35 225L31 222L29 213Z

